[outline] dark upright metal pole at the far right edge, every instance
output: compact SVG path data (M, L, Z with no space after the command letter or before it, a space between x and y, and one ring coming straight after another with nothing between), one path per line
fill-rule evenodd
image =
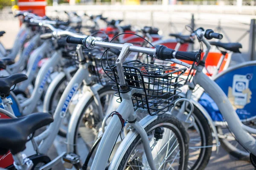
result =
M256 52L255 52L255 39L256 39L256 20L251 19L250 23L250 36L249 36L249 56L250 60L256 60Z

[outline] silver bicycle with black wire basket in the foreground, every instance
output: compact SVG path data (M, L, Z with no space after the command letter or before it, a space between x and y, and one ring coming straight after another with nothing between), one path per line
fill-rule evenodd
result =
M118 87L118 91L120 92L120 96L122 98L122 102L120 103L119 107L117 108L116 111L112 112L115 113L112 116L112 119L110 120L108 126L105 129L105 132L103 133L103 136L99 142L99 146L98 149L96 151L96 155L94 156L93 159L93 163L92 166L90 167L91 169L105 169L105 167L108 164L108 159L111 156L111 152L113 150L113 146L116 143L116 139L119 136L120 130L123 127L123 123L128 120L128 122L130 123L130 125L134 128L136 128L136 130L138 131L130 131L127 136L125 137L125 139L122 140L121 145L119 145L119 147L117 148L113 159L111 159L111 163L108 166L109 169L114 170L117 169L118 167L122 167L125 168L126 167L126 163L129 160L129 156L131 155L131 147L134 147L134 144L136 143L136 140L141 140L140 137L138 136L140 134L142 140L143 140L143 146L145 148L146 151L146 158L148 158L149 160L149 166L151 167L151 169L154 169L154 163L153 163L153 158L150 156L150 152L152 149L150 149L149 147L149 143L148 143L148 135L146 135L147 133L145 133L145 130L143 130L145 127L150 128L150 126L154 126L154 121L157 123L160 122L165 122L165 120L167 122L169 122L170 124L172 124L172 126L175 126L176 129L179 129L180 134L182 134L181 136L178 135L177 133L175 133L175 135L177 135L177 140L180 141L179 144L182 145L182 151L180 151L181 155L180 157L182 157L182 161L180 162L180 167L179 169L183 169L184 167L186 167L186 160L187 160L187 156L188 154L187 152L187 142L188 142L188 138L187 138L187 134L186 134L186 130L184 129L184 127L182 126L182 124L174 117L171 115L167 115L165 114L164 116L152 116L152 115L157 115L157 113L160 112L166 112L168 111L168 108L171 107L171 105L173 104L173 102L175 101L175 96L176 94L176 90L178 91L177 88L177 84L179 84L180 82L177 81L178 77L173 77L173 79L171 80L168 79L168 74L171 75L172 73L178 73L178 75L181 75L183 73L183 71L185 71L186 69L178 69L175 70L175 68L172 67L167 67L167 68L162 68L162 66L156 66L156 65L147 65L144 63L140 63L137 61L131 61L131 62L124 62L125 58L128 56L128 54L133 51L133 52L144 52L146 54L151 54L154 55L154 57L158 58L158 59L166 59L169 61L173 61L173 58L178 58L178 59L186 59L189 58L190 60L194 60L194 61L198 61L198 59L200 59L200 55L198 53L193 53L193 54L188 54L188 53L180 53L179 51L174 51L172 49L168 49L164 46L156 46L156 48L143 48L143 47L137 47L137 46L133 46L132 44L115 44L115 43L111 43L111 42L99 42L97 41L94 37L87 37L86 39L80 39L80 38L73 38L73 37L67 37L67 42L71 42L71 43L76 43L76 44L83 44L86 46L86 48L92 49L95 46L99 46L99 47L105 47L105 48L116 48L121 50L121 53L118 57L118 59L116 60L116 65L112 65L108 67L108 71L112 72L114 74L114 76L112 76L112 80L114 82L120 82L120 84L117 84ZM167 52L168 51L168 52ZM173 56L172 56L173 55ZM161 58L160 58L161 57ZM179 62L180 63L180 62ZM130 64L130 65L129 65ZM155 69L154 69L155 67ZM156 96L156 98L154 98L156 101L152 102L152 101L144 101L147 104L141 105L141 102L143 102L143 100L141 100L144 96L150 96L152 94L150 93L154 93L154 90L152 90L150 93L146 92L148 91L148 89L145 89L145 86L143 85L143 83L149 83L150 82L143 82L143 74L140 72L140 69L142 70L147 70L147 68L150 70L152 70L152 74L154 75L154 73L156 74L157 71L162 72L163 74L160 74L159 77L157 78L163 78L165 77L166 81L172 81L169 82L169 85L171 85L172 83L174 83L173 85L175 86L174 89L170 90L170 89L166 89L165 93L163 92L163 89L166 88L166 86L162 85L162 91L159 89L159 98L161 98L161 95L167 95L170 98L167 98L167 100L170 101L169 104L166 105L166 107L163 107L163 101L161 101L161 99L158 99ZM123 70L124 69L124 70ZM129 69L131 74L134 76L134 79L128 79L128 70ZM173 72L172 72L172 71ZM116 72L117 71L117 72ZM137 73L134 73L134 71L138 71ZM165 71L169 73L166 75L164 74ZM139 74L140 73L140 74ZM148 73L150 74L150 73ZM139 76L136 78L136 75ZM163 77L161 77L163 76ZM113 78L114 77L114 78ZM171 76L172 77L172 76ZM152 78L152 80L154 81L153 77L150 77L150 75L148 75L148 79ZM128 80L125 80L128 79ZM141 79L141 81L137 81L138 84L142 83L142 87L141 86L136 86L134 87L132 84L136 84L136 80ZM176 79L176 82L174 81L174 79ZM156 81L159 81L159 79L156 79ZM127 82L127 83L126 83ZM129 82L131 82L129 84ZM162 83L164 82L161 81ZM166 82L166 84L168 84ZM159 84L156 83L156 86L158 86ZM160 85L159 85L160 86ZM168 85L167 85L168 86ZM144 88L143 88L144 87ZM170 91L169 91L170 90ZM161 91L161 92L160 92ZM173 92L175 91L175 92ZM143 93L144 92L144 93ZM173 92L173 95L171 94ZM178 92L177 92L178 93ZM138 99L138 102L133 103L132 100L132 94L136 94L136 96L142 97L141 99ZM88 98L87 98L88 99ZM163 97L162 97L163 99ZM153 100L153 99L152 99ZM82 100L81 100L82 101ZM140 103L140 104L139 104ZM155 109L149 107L148 103L151 103L153 105L155 105L154 108L160 107L159 109ZM79 104L78 104L79 105ZM77 105L77 106L78 106ZM146 107L145 105L147 105L148 107ZM78 107L77 107L78 108ZM134 108L137 108L137 111L134 112ZM82 108L81 108L82 110ZM151 116L146 116L145 118L143 118L140 123L138 123L136 121L136 117L138 113L149 113L151 114ZM109 114L105 117L105 119L107 119L109 116L112 115ZM166 116L166 117L165 117ZM73 112L72 116L70 119L76 119L78 122L78 117L79 114L77 112ZM122 118L122 119L121 119ZM165 120L163 120L165 119ZM121 121L121 123L120 123ZM123 122L123 123L122 123ZM78 124L77 124L78 125ZM161 123L159 124L161 125ZM157 125L157 126L159 126ZM103 126L103 125L102 125ZM142 127L143 126L143 127ZM72 152L74 151L74 145L76 145L76 143L72 143L73 142L73 134L76 133L78 134L78 132L76 132L76 127L73 123L69 124L69 128L72 131L69 131L69 133L67 133L67 142L68 142L68 152ZM103 127L104 128L104 127ZM134 129L132 128L132 129ZM148 130L146 128L146 130ZM110 133L111 132L111 133ZM176 131L177 132L177 131ZM135 140L136 139L136 140ZM152 139L152 138L151 138ZM181 140L180 140L181 139ZM181 142L183 141L183 142ZM138 142L138 141L137 141ZM185 143L184 143L185 142ZM154 143L154 142L153 142ZM161 142L160 142L161 143ZM163 142L164 143L164 142ZM94 146L95 147L95 146ZM128 149L129 148L129 149ZM126 151L128 151L129 153L126 153ZM145 155L144 155L145 156ZM90 159L90 158L89 158ZM123 159L123 160L122 160ZM88 158L87 158L88 160ZM122 162L122 163L120 163ZM87 162L88 163L88 162ZM80 168L81 164L76 164L76 168Z

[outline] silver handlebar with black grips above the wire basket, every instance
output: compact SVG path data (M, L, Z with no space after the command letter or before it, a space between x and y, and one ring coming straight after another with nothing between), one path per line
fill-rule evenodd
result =
M76 37L68 36L66 41L68 43L84 45L88 49L92 49L95 46L99 46L104 48L114 48L114 49L122 50L122 48L124 47L124 44L97 41L95 37L91 37L91 36L87 38L76 38ZM150 55L153 55L154 58L161 59L161 60L175 59L177 57L177 59L184 59L188 61L199 62L201 58L201 55L199 53L175 51L173 49L167 48L164 45L156 45L156 48L145 48L145 47L130 45L129 51L150 54ZM117 51L113 53L118 54Z

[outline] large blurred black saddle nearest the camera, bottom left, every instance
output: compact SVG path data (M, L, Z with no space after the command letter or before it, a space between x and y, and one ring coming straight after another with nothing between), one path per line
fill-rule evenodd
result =
M0 119L0 155L8 150L17 154L26 149L27 137L53 122L49 113L32 113L17 119Z

